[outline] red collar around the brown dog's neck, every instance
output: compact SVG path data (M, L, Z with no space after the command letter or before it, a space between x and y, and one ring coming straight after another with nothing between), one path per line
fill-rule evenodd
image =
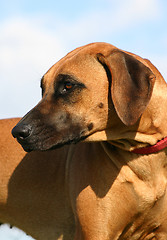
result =
M167 147L167 137L158 141L155 145L152 145L152 146L150 145L148 147L143 147L143 148L137 148L137 149L134 149L132 152L137 154L151 154L151 153L159 152L166 147Z

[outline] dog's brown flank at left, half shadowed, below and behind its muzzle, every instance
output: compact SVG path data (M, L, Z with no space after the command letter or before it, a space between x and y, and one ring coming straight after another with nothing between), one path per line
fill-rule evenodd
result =
M64 175L57 174L63 172L63 161L56 160L59 150L26 153L11 135L19 120L0 120L0 222L34 239L63 239L63 232L55 229L58 212L66 209ZM64 238L66 234L70 235L68 225Z

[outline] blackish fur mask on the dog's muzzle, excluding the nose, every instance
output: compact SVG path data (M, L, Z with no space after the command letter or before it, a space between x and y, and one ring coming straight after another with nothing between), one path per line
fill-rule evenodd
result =
M39 105L17 124L17 131L20 133L25 126L31 126L29 136L17 135L17 140L25 151L55 149L80 142L89 135L88 126L84 124L84 119L81 120L75 114L71 116L67 111L58 110L53 122L50 122L49 118L50 113L41 114ZM89 128L92 126L93 124L90 124Z

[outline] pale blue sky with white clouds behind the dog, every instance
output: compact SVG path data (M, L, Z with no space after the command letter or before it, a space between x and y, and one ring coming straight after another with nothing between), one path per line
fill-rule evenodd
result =
M44 73L91 42L148 58L167 80L166 13L166 0L0 0L0 118L26 114ZM3 225L0 239L28 237Z

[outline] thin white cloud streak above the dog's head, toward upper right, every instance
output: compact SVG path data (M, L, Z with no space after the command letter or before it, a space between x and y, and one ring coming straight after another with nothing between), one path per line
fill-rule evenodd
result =
M64 23L69 39L84 42L103 35L113 35L144 24L160 15L158 0L114 0L108 8L89 12L75 23Z

